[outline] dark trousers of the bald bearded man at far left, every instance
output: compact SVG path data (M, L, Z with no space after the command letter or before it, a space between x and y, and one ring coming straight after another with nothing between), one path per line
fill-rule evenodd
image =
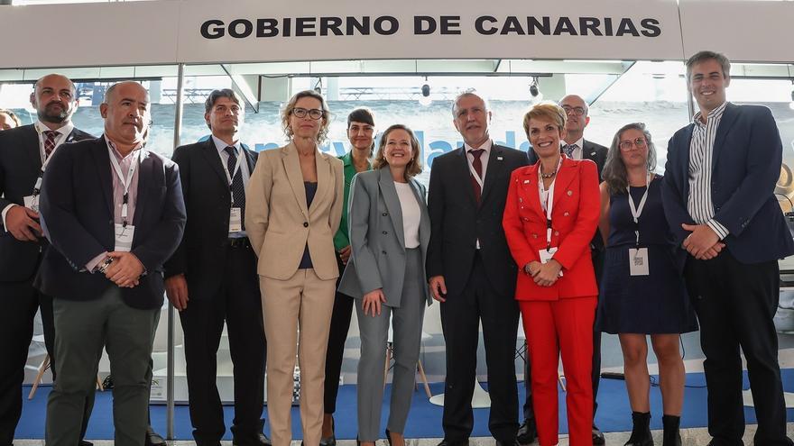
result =
M40 305L44 344L50 355L54 380L52 297L34 288L32 278L23 282L0 282L0 444L11 444L14 440L14 430L22 414L24 368L33 336L33 318Z

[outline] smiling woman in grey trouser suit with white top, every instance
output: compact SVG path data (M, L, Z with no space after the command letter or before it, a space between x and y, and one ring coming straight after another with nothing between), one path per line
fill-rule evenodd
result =
M425 255L430 220L420 173L419 141L408 127L383 132L373 170L353 179L348 205L352 255L339 291L355 297L361 333L358 438L374 446L381 421L383 362L392 317L394 378L386 439L403 446L419 360L422 319L430 305Z

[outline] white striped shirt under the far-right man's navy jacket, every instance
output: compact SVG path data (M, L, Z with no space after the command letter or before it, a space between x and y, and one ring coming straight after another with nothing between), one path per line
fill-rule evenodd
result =
M725 112L724 102L706 116L706 123L700 122L702 114L695 114L695 128L689 142L689 196L687 210L697 224L707 224L720 240L730 232L714 219L714 202L711 199L711 159L714 153L716 130Z

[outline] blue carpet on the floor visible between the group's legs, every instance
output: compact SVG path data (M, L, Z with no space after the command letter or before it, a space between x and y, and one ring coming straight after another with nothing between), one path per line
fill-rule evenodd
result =
M783 388L794 392L794 369L783 369ZM687 388L684 396L684 411L681 417L682 427L706 426L706 380L702 373L689 373L687 375ZM442 383L430 385L433 395L441 393ZM487 386L485 386L487 388ZM747 374L744 374L744 388L749 388ZM32 401L24 399L22 420L16 429L16 438L41 439L43 438L43 424L46 414L47 396L51 387L39 387ZM28 389L23 391L27 396ZM388 401L391 386L386 387L383 398L382 426L388 418ZM519 384L520 402L523 402L524 387ZM559 421L560 432L568 432L568 423L565 416L565 394L560 392ZM622 380L602 379L598 390L599 408L595 416L595 423L604 432L625 432L632 429L631 413L628 396L626 396L625 382ZM539 409L540 410L540 409ZM475 409L475 426L473 437L490 436L488 432L488 409ZM266 413L266 411L265 411ZM651 387L651 419L652 429L661 429L661 395L659 387ZM231 406L224 407L226 426L230 426L234 417ZM338 439L355 439L355 386L347 385L339 388L337 398L337 414L335 414ZM755 413L751 407L744 408L746 423L755 423ZM794 421L794 409L789 409L789 422ZM165 406L152 405L152 425L157 432L165 433ZM269 430L269 425L265 430ZM177 440L192 440L192 427L188 407L177 406L174 414L174 434ZM292 432L295 439L300 439L300 412L298 407L292 408ZM417 390L413 397L411 414L405 430L409 438L439 438L443 436L441 430L441 407L431 405L424 391ZM87 439L112 439L113 438L113 406L110 392L97 392L97 401L94 413L88 424ZM224 440L231 440L231 433L226 432Z

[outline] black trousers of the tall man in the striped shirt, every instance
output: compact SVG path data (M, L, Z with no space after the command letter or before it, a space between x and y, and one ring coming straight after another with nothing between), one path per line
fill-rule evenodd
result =
M717 444L742 444L741 348L758 420L754 443L790 444L772 323L780 298L777 261L745 265L723 250L716 259L689 257L684 276L706 354L708 432Z

